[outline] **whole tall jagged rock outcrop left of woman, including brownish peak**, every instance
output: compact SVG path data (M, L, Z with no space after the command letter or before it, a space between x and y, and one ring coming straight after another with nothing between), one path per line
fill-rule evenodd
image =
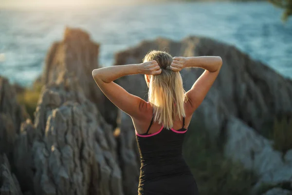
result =
M116 122L109 125L101 115L100 110L110 108L104 106L104 95L91 76L98 68L98 48L87 33L67 28L64 39L50 49L42 78L36 81L36 85L46 85L35 121L18 125L13 147L15 173L23 192L124 194L113 137ZM97 109L96 105L102 106ZM113 113L117 114L116 108ZM110 117L116 121L116 116Z

